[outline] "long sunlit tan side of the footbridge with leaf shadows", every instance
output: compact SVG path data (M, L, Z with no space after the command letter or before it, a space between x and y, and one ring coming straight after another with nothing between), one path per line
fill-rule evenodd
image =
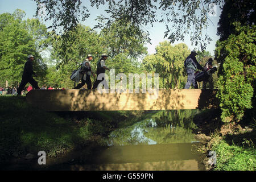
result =
M158 93L98 90L31 90L26 100L46 111L176 110L218 107L217 90L159 89Z

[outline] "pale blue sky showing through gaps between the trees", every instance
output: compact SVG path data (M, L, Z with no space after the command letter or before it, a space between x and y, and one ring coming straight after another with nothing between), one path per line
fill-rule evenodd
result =
M85 0L82 3L82 5L85 5ZM13 13L16 9L21 9L26 12L26 19L27 18L34 18L35 12L36 12L36 3L32 0L0 0L0 14L2 13ZM90 11L90 17L86 19L86 22L81 22L81 24L84 24L85 26L89 26L90 28L93 28L97 22L94 20L96 17L100 14L104 14L104 6L101 6L100 9L91 9L89 7ZM207 33L212 38L212 42L207 46L206 51L209 51L212 56L214 56L214 49L216 41L219 39L219 36L217 36L217 23L220 18L221 10L217 7L216 15L209 16L210 20L212 22L209 22L209 26L207 28ZM158 12L157 15L159 15L160 12ZM46 26L49 26L51 22L44 22ZM159 45L160 42L163 42L164 40L167 40L167 38L164 39L164 31L166 31L166 27L164 23L154 23L153 27L150 25L144 27L145 30L150 32L150 39L151 44L146 44L145 46L148 48L148 53L153 54L155 53L155 47ZM189 39L189 35L185 36L184 42L175 42L177 43L185 43L187 44L188 48L191 49L199 49L199 47L195 45L191 45L191 41Z

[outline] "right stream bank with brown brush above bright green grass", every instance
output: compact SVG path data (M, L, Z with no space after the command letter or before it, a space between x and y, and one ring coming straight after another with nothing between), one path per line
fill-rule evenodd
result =
M253 117L246 117L240 123L223 123L218 115L220 110L208 110L195 118L200 126L199 135L203 135L206 141L201 151L205 156L211 150L216 152L217 165L210 166L206 157L206 168L215 171L254 171L256 131Z

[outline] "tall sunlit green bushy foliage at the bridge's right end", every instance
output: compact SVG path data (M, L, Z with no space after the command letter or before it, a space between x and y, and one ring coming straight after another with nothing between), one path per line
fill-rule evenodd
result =
M234 23L236 34L217 43L216 57L221 62L218 94L224 122L240 121L245 109L252 107L254 96L255 27Z

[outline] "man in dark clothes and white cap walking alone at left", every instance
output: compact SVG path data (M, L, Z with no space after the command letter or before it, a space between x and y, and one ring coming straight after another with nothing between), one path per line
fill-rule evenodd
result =
M17 90L17 95L20 96L22 89L24 86L29 82L35 89L40 89L38 86L38 82L35 81L35 79L32 77L34 75L37 77L36 73L33 71L33 65L32 62L34 61L34 56L33 55L28 55L27 56L27 62L24 65L24 71L22 74L22 81L19 84L19 88Z

